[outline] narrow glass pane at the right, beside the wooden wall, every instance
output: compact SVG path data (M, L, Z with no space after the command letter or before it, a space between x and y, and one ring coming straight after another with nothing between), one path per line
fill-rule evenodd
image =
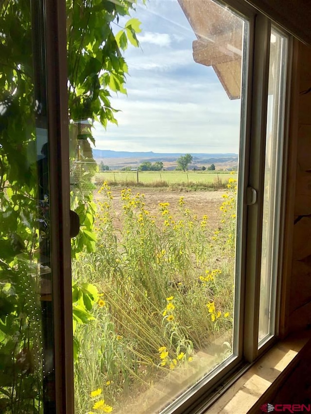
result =
M271 30L259 304L259 346L274 334L287 39Z

